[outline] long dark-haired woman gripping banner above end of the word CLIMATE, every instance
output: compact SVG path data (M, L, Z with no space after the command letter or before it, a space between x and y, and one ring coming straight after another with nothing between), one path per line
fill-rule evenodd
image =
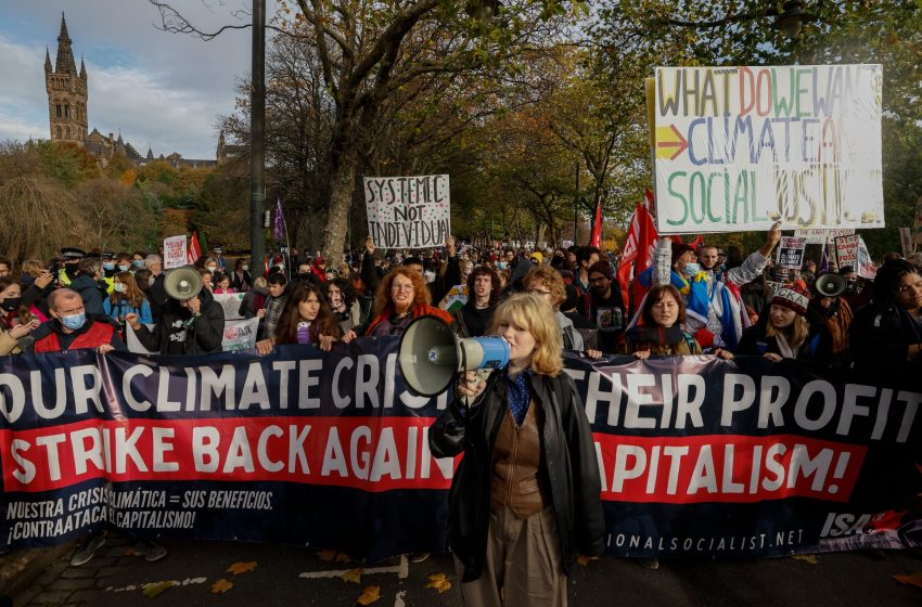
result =
M292 284L276 335L256 343L260 354L268 354L280 344L312 344L329 352L343 332L330 302L316 284L297 281Z

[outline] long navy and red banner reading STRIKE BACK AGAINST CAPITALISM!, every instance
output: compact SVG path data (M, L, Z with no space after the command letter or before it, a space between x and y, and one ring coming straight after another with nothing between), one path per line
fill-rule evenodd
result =
M447 395L397 339L189 359L0 361L0 548L114 524L383 558L445 547ZM338 347L337 347L338 348ZM611 554L768 556L922 545L918 384L739 357L567 358L592 424Z

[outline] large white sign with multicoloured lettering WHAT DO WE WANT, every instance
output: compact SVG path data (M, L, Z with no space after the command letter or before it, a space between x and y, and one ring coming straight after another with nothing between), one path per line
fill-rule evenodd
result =
M661 234L883 228L880 65L658 67Z

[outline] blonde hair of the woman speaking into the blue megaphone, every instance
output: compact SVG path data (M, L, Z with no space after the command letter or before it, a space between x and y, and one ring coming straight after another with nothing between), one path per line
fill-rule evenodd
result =
M521 293L497 306L488 335L497 335L500 325L511 324L524 328L535 338L532 371L555 377L563 371L563 337L556 317L537 295Z

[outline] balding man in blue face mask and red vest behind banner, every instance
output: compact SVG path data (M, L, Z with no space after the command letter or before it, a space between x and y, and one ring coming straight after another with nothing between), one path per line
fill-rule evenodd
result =
M76 290L59 288L52 292L48 296L48 309L52 320L33 332L36 353L84 348L95 348L101 354L126 350L108 317L88 314Z

